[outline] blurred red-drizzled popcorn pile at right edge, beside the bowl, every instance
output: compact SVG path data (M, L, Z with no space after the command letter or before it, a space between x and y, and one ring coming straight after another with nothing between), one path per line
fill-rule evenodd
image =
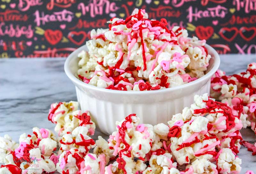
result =
M251 126L256 134L256 63L248 64L246 72L227 76L218 70L211 79L211 96L227 103L240 117L243 127ZM256 155L256 144L242 141Z

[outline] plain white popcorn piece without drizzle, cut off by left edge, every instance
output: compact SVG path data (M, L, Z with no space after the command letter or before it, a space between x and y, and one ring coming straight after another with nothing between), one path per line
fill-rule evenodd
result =
M0 163L7 163L5 156L18 146L19 144L15 143L9 135L6 134L4 137L0 137Z

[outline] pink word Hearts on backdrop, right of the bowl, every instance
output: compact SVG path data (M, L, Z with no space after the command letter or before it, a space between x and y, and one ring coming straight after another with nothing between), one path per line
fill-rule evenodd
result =
M188 22L192 22L193 18L195 18L195 21L200 18L225 18L226 14L228 13L228 9L225 7L222 7L221 5L217 5L216 7L207 8L207 10L198 10L195 8L195 12L193 12L193 7L190 6L188 8Z

